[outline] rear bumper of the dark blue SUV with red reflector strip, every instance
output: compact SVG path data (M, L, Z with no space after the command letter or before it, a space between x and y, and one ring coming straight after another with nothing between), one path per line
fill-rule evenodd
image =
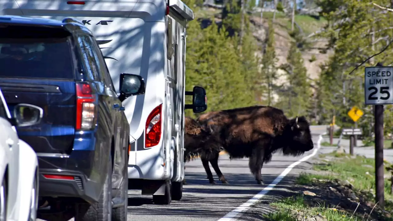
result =
M94 151L37 155L40 197L77 197L88 203L99 200L101 173L94 171L92 165Z

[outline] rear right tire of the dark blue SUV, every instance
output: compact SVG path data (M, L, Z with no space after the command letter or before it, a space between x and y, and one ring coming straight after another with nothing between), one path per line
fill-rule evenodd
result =
M75 221L110 221L112 217L112 157L108 157L107 177L98 203L77 204Z

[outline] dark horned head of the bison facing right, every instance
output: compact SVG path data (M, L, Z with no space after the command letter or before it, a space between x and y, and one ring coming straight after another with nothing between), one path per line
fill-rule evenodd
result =
M301 155L314 148L310 125L304 116L289 120L286 129L286 145L283 147L285 155Z

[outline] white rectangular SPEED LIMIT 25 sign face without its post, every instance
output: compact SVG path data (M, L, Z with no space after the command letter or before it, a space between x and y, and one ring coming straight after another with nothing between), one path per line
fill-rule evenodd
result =
M365 104L393 104L393 67L366 67Z

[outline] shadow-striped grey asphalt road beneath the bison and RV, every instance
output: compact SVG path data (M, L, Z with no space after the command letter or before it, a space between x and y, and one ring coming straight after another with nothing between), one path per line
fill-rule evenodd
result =
M317 147L319 136L325 132L325 126L312 127L314 148ZM313 150L300 157L286 157L277 153L272 161L262 168L264 185L256 184L255 178L248 169L248 159L230 160L228 155L220 155L219 166L229 184L221 184L215 175L217 184L209 184L202 162L196 159L186 163L185 185L183 198L172 201L170 205L155 205L152 196L140 195L140 191L129 191L128 220L133 221L217 221L228 212L248 201L263 188L270 184L290 164L311 154ZM261 220L261 214L268 212L266 200L274 200L284 194L283 189L290 179L301 171L310 168L303 162L295 166L279 185L266 194L261 203L256 204L247 212L239 214L237 220Z

